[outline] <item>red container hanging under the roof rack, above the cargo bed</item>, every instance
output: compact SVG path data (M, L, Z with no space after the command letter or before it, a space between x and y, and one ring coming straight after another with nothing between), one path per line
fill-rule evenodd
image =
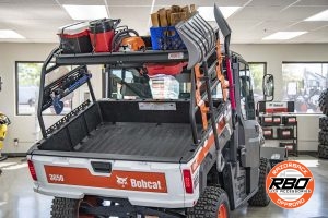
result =
M148 63L145 64L145 69L149 75L159 75L159 74L177 75L183 72L183 68L186 65L187 65L186 62L165 63L165 64Z

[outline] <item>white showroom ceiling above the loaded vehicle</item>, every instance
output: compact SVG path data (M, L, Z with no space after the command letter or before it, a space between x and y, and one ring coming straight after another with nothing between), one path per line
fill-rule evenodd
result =
M74 23L62 4L106 5L109 17L147 34L150 14L172 4L242 7L227 19L233 44L323 44L328 43L328 21L304 19L328 9L328 0L0 0L0 29L13 29L25 39L0 39L17 43L57 43L58 27ZM153 7L152 7L153 4ZM278 31L306 31L289 40L262 40Z

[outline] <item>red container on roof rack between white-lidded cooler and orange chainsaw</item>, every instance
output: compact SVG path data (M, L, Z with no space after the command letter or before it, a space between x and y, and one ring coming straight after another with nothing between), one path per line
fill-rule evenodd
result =
M114 31L104 33L90 33L91 44L95 52L109 52L112 51L112 40L114 38Z

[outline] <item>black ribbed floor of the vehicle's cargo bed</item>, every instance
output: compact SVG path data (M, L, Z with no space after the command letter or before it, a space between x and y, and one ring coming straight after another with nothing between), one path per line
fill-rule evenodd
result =
M77 147L82 153L106 153L179 158L195 152L190 124L102 123Z

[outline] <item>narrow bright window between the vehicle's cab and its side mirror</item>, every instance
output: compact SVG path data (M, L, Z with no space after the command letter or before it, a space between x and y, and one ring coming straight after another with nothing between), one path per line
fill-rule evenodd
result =
M249 62L248 64L254 81L254 100L257 104L259 100L263 100L262 80L267 74L267 63Z

